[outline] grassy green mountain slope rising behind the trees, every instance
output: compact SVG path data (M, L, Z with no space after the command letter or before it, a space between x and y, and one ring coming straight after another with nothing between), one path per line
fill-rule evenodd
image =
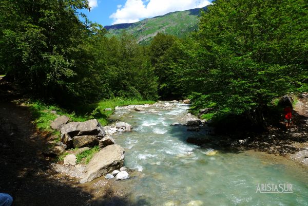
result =
M206 7L202 9L206 10ZM200 11L200 8L176 11L162 16L146 18L136 23L116 24L105 26L105 28L109 31L109 36L119 35L123 30L126 30L140 44L148 44L159 32L183 37L190 31L197 29Z

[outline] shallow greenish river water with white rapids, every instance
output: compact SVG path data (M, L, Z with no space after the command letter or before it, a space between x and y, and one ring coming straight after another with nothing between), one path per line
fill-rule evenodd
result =
M188 105L166 103L143 111L119 109L111 117L133 126L114 135L125 148L124 165L138 175L127 181L138 205L308 205L308 175L301 167L257 152L213 152L186 142L206 135L187 132ZM219 137L215 137L219 138ZM292 184L293 193L257 193L258 184ZM140 201L143 200L143 201Z

